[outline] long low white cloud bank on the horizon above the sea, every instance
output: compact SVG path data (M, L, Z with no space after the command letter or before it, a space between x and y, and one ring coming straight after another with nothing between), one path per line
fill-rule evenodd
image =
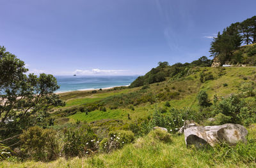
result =
M93 74L121 74L122 72L125 72L127 70L106 70L106 69L92 69L92 70L81 70L81 69L76 69L74 71L74 74L83 74L83 75L93 75Z

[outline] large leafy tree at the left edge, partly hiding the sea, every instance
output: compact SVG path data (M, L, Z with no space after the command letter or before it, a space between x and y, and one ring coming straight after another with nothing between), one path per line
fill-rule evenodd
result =
M25 63L0 46L0 127L15 134L31 125L45 125L54 106L64 106L54 91L59 88L51 74L28 74Z

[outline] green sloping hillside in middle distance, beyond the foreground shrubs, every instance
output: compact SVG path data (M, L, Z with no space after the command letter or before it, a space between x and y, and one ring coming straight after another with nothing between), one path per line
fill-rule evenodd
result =
M212 74L212 79L202 83L200 74L203 72L204 74ZM167 78L166 81L150 84L147 88L124 87L120 90L116 88L97 93L70 92L61 94L61 99L65 100L67 105L58 110L70 109L70 111L76 112L74 115L67 114L70 118L69 122L76 122L76 120L93 122L104 119L131 122L138 118L147 117L152 112L150 109L154 109L156 104L163 106L166 101L170 102L172 108L189 107L198 110L196 96L200 90L205 90L213 102L214 95L225 97L241 92L243 83L255 81L255 73L255 67L195 67L191 69L188 76L177 80ZM96 109L85 115L85 112L79 110L81 106L92 106L93 104L105 106L106 111ZM134 110L131 109L131 106ZM61 112L58 111L58 113ZM56 115L58 113L56 112ZM127 113L132 120L128 120Z

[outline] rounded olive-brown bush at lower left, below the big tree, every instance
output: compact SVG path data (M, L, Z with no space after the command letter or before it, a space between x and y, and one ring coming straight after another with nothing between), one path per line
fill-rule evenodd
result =
M60 152L56 131L30 127L20 136L21 151L35 160L53 160Z

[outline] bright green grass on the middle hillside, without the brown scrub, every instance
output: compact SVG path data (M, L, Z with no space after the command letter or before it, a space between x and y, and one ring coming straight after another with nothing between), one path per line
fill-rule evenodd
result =
M199 80L200 71L205 69L207 72L211 72L214 75L214 80L205 81L201 83ZM216 67L202 67L200 68L195 74L191 74L186 78L182 78L179 80L174 81L163 81L161 83L154 83L150 85L145 91L145 94L148 92L152 92L154 95L159 94L160 92L165 92L164 87L170 88L170 92L178 92L181 90L179 99L171 99L170 104L172 108L182 109L184 107L190 107L192 109L198 110L198 102L196 99L197 93L200 90L205 90L209 95L209 99L213 102L214 94L218 97L225 97L230 94L236 94L241 92L241 83L245 82L243 77L248 78L248 80L255 80L255 67L225 67L223 71L225 74L223 76L219 76L220 68ZM197 76L197 78L195 78ZM247 81L248 81L247 80ZM223 83L227 83L227 87L223 87ZM172 89L175 87L175 89ZM108 98L112 95L120 95L120 94L128 94L130 92L134 92L139 90L139 88L127 88L124 90L104 90L103 93L91 94L86 95L86 97L80 97L77 99L70 99L67 101L66 108L70 106L79 106L84 103L88 102L95 102L95 101L104 101L104 99ZM162 91L161 91L162 89ZM90 97L88 97L90 96ZM164 102L157 101L157 106L164 106ZM132 120L137 120L138 118L145 118L152 113L152 109L154 108L154 104L140 104L138 106L134 106L135 110L131 111L131 109L126 108L119 108L117 110L108 109L107 113L102 111L96 110L88 113L88 116L83 115L82 113L77 113L75 115L69 116L71 119L70 122L74 122L76 120L87 122L102 120L102 119L120 119L124 120L125 122L131 122L127 120L127 113L131 115Z

